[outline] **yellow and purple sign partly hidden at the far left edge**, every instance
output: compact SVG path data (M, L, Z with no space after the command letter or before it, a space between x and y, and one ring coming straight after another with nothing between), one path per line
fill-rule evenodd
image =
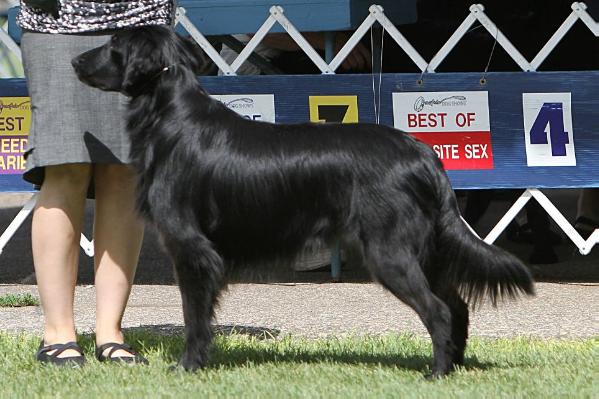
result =
M0 174L22 174L31 126L29 97L0 97Z

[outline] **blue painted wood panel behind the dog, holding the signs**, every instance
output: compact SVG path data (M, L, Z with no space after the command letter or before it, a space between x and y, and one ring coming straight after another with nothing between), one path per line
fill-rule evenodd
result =
M380 122L393 125L393 92L487 91L493 169L451 170L454 188L599 187L599 71L384 74ZM212 94L274 94L277 122L309 120L308 97L355 95L361 122L374 122L371 75L203 77ZM378 76L377 76L378 81ZM576 166L527 166L523 93L570 93ZM0 81L1 96L26 95L23 80ZM0 191L29 190L19 175L0 175Z

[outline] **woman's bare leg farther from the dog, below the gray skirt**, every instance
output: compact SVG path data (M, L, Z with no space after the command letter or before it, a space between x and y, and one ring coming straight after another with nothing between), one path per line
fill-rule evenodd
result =
M90 176L89 164L46 167L33 212L31 245L46 345L76 340L73 300ZM67 350L58 357L78 355Z

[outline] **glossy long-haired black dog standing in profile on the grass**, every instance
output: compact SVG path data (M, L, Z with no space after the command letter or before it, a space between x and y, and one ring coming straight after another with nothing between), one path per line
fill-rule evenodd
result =
M407 134L246 120L198 83L199 47L164 27L117 33L73 66L83 82L131 97L138 205L175 264L186 369L206 365L228 269L289 263L314 240L359 254L418 313L433 375L464 360L466 302L533 293L518 259L468 230L441 163Z

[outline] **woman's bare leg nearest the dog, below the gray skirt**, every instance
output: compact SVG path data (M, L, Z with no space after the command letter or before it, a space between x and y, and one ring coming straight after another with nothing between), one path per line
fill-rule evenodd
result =
M96 164L94 179L96 344L99 346L123 343L121 320L137 267L143 222L135 209L135 177L129 167ZM119 350L112 356L129 355Z

